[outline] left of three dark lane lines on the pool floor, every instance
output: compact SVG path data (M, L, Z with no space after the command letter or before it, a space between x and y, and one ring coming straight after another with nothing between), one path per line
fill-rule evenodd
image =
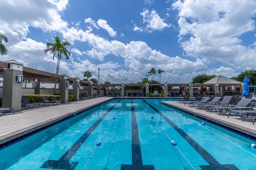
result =
M73 170L77 166L78 162L69 162L76 151L83 145L84 141L89 135L97 128L100 122L109 114L110 111L120 102L118 100L113 106L111 106L106 113L104 113L83 135L80 137L73 146L71 146L67 152L59 160L47 160L41 168L49 169L67 169Z

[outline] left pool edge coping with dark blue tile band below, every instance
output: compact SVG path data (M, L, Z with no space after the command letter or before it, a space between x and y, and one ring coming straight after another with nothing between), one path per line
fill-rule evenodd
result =
M36 134L36 133L38 133L42 130L45 130L45 129L49 128L50 126L53 126L53 125L58 124L62 121L65 121L68 118L74 117L74 116L76 116L76 115L78 115L78 114L80 114L84 111L87 111L87 110L89 110L93 107L99 106L99 105L101 105L103 103L106 103L106 102L108 102L110 100L113 100L113 99L114 98L109 98L109 99L106 99L105 101L98 101L95 104L83 107L83 108L78 109L74 112L68 112L66 114L51 118L47 121L40 122L40 123L31 125L31 126L28 126L27 128L23 128L23 129L20 129L18 131L15 131L15 132L2 135L0 137L0 150L4 149L4 148L6 148L10 145L13 145L14 143L17 143L17 142L19 142L23 139L26 139L29 136L33 135L33 134Z

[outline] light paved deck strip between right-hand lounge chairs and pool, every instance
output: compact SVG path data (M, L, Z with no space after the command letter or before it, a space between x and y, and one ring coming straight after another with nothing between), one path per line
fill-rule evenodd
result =
M228 113L225 114L225 112L222 112L221 115L216 112L210 113L196 109L195 107L188 107L188 105L184 106L184 104L176 101L162 101L162 103L181 111L191 113L194 116L202 117L212 122L227 126L228 128L249 134L256 138L256 124L252 124L252 118L245 118L244 122L242 122L242 118L239 116L229 116L228 118Z

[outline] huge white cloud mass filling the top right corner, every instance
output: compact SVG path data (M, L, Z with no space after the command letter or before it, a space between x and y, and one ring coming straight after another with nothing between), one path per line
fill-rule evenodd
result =
M179 41L187 55L238 68L254 65L256 50L242 45L240 36L255 30L256 1L187 0L172 6L179 12Z

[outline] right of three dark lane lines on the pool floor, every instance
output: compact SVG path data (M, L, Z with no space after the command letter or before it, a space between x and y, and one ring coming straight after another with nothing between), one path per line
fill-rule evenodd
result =
M156 113L158 113L164 120L169 123L173 129L175 129L197 152L201 155L204 160L206 160L209 165L199 165L203 170L237 170L238 168L235 167L233 164L228 165L221 165L218 160L213 158L209 152L207 152L201 145L199 145L194 139L189 137L189 135L184 132L182 129L179 128L175 123L173 123L169 118L163 115L157 108L153 105L149 104L146 100L143 100L149 107L154 109Z

